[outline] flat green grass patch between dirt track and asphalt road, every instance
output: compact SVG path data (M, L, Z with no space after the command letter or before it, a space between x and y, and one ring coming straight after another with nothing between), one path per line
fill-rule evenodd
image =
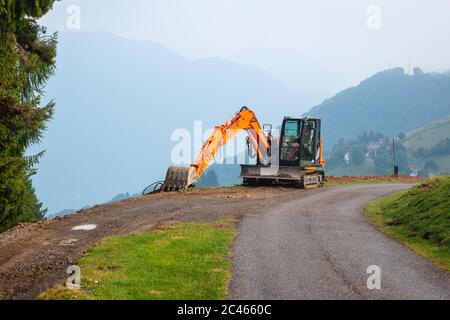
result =
M225 299L231 278L233 220L180 223L114 236L80 259L81 290L42 293L43 300Z

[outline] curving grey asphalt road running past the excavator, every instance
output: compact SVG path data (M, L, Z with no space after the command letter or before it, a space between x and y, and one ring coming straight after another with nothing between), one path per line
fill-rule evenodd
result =
M408 185L310 193L246 216L234 244L230 299L450 299L450 273L389 239L363 215ZM369 266L381 270L368 289Z

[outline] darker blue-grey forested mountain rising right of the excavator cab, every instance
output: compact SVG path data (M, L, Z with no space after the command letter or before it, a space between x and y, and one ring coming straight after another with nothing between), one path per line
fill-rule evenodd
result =
M383 71L324 101L308 115L323 119L328 147L370 130L396 136L450 115L450 74Z

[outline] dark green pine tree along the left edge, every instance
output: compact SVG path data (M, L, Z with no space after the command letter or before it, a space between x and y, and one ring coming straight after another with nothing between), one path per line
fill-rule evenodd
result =
M0 0L0 231L42 219L45 210L31 176L42 153L25 156L39 142L54 103L41 106L53 74L56 34L37 20L54 0Z

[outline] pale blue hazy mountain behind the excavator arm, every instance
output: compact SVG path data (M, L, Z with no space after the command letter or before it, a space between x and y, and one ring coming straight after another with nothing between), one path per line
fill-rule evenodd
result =
M57 103L34 183L49 213L139 192L162 179L175 129L204 130L252 106L262 122L301 114L296 94L270 74L219 59L192 61L153 42L105 33L61 34ZM197 150L195 151L197 152Z

